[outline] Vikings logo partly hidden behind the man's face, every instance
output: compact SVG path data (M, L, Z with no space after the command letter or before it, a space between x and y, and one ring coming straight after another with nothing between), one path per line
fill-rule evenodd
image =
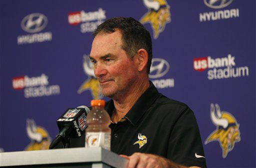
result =
M88 55L83 55L83 70L88 78L81 84L77 93L80 94L85 90L90 90L93 99L100 99L102 95L99 89L99 82L94 75L93 64L89 60Z

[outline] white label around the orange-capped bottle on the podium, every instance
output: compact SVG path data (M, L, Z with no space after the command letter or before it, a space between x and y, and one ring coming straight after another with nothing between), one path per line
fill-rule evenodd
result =
M85 147L102 147L110 150L110 132L86 132Z

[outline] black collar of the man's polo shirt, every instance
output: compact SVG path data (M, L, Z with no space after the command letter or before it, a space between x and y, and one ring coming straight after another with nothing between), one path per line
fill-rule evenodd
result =
M149 108L149 106L154 102L158 96L158 91L151 81L149 81L149 87L141 94L136 103L131 107L131 109L124 116L133 125L141 118L144 112ZM111 116L114 108L113 100L111 99L105 106L106 111Z

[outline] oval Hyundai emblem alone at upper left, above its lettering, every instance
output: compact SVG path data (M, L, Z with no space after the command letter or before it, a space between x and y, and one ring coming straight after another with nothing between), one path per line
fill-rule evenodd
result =
M31 13L21 21L21 28L26 32L41 31L47 25L47 17L41 13Z

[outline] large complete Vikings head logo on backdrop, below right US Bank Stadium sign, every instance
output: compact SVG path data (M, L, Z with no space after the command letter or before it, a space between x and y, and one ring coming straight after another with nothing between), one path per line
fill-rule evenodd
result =
M216 114L215 114L216 109ZM220 111L218 104L210 104L210 118L216 130L214 130L205 140L204 144L217 140L222 149L222 157L234 147L234 143L240 141L239 124L234 116L226 111Z

